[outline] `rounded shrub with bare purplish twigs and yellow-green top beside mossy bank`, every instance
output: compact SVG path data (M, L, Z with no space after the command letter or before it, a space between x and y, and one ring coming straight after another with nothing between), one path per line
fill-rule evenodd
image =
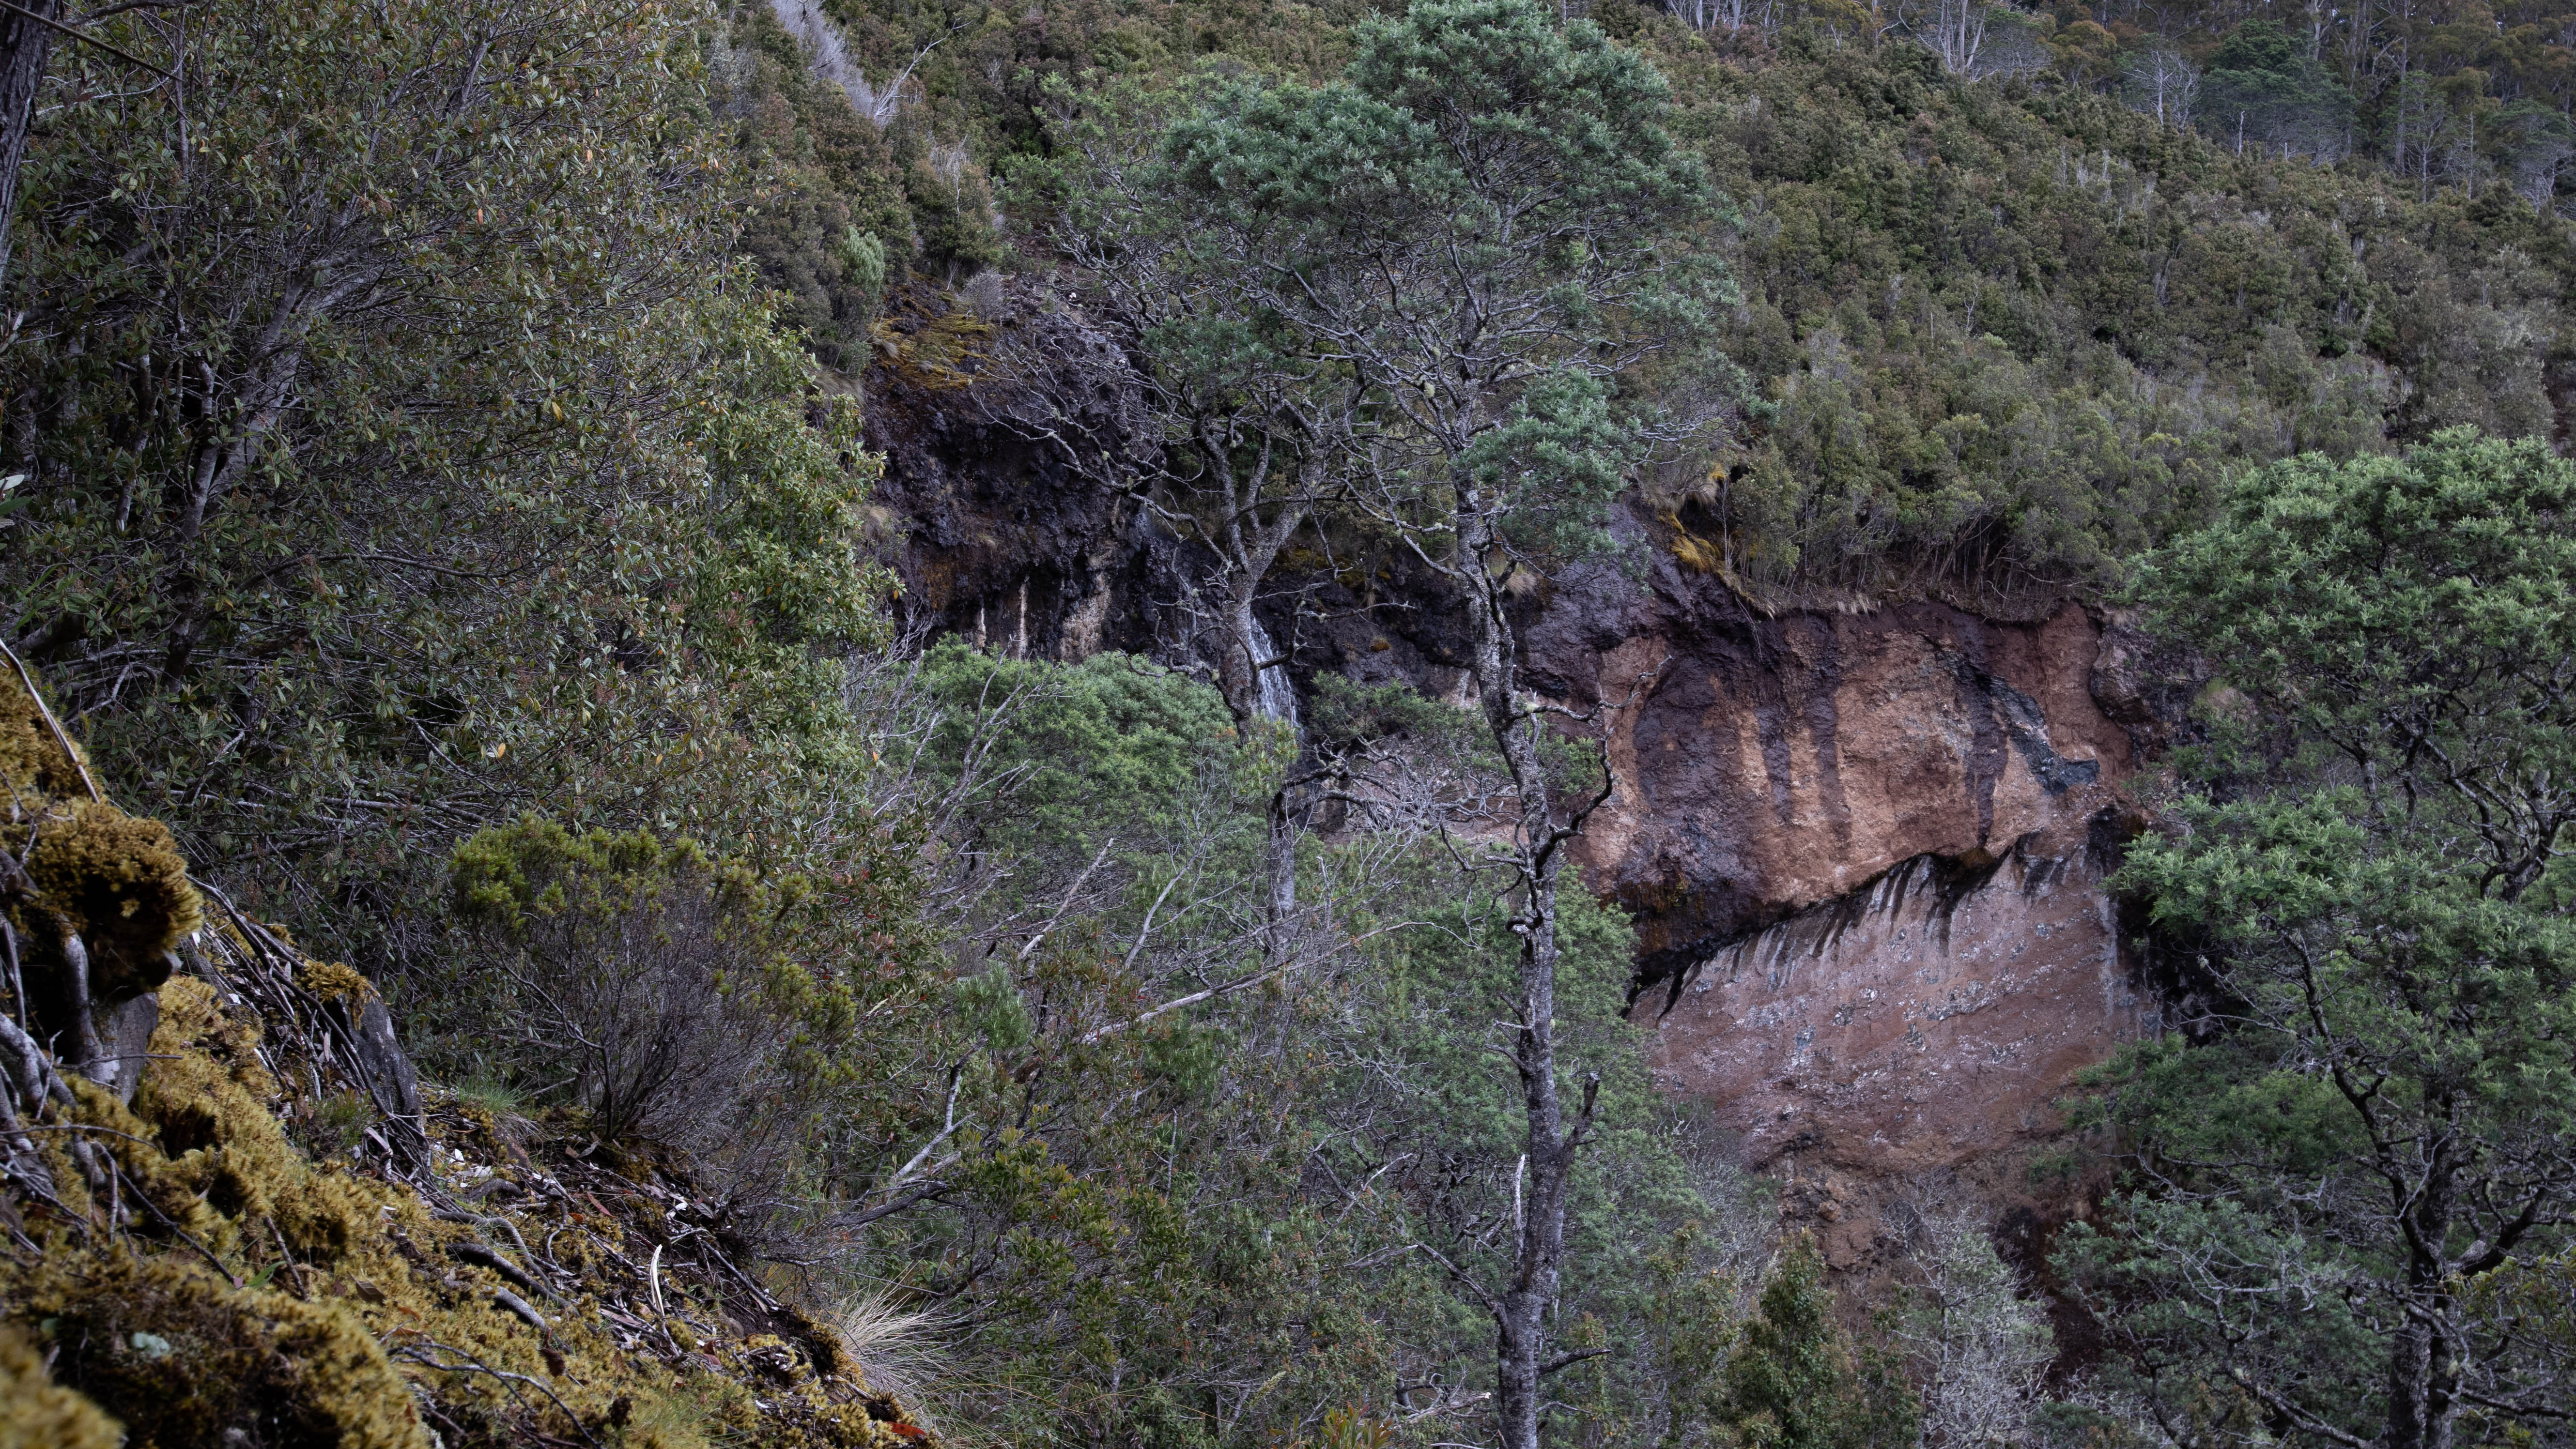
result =
M440 1024L479 1037L487 1071L554 1078L600 1140L688 1150L737 1230L829 1143L829 1114L871 1107L855 952L804 878L538 816L459 844L451 875L469 937Z

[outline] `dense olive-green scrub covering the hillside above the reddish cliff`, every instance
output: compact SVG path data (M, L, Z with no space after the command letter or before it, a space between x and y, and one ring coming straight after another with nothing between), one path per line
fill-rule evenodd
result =
M2025 49L2056 75L1968 82L1911 41L1873 44L1896 15L1754 5L1767 33L1728 41L1662 10L1597 18L1669 77L1669 129L1741 208L1700 247L1744 288L1718 342L1759 396L1739 448L1659 458L1651 502L1672 510L1677 553L1741 587L1989 607L2115 589L2125 556L2195 528L2241 466L2380 453L2447 425L2553 427L2571 252L2532 201L2576 157L2576 59L2537 15L1999 10L1999 26L2053 26ZM837 13L876 36L881 72L951 23L868 0ZM1118 111L1087 82L1157 90L1218 54L1221 98L1249 98L1257 75L1319 85L1363 39L1350 21L1211 3L981 18L920 75L930 111L1010 157L1012 198L1041 221L1054 162L1028 152L1048 124L1061 136L1043 118ZM2197 134L2105 93L2156 46L2208 72ZM1005 51L981 69L948 59ZM2396 57L2416 80L2388 72ZM1484 106L1515 85L1507 69L1425 88ZM1569 85L1548 77L1551 95ZM2249 113L2254 142L2236 144L2221 106ZM1314 149L1288 142L1285 113L1262 131ZM2316 165L2347 139L2388 167ZM1216 201L1175 203L1164 224ZM1692 417L1734 391L1705 365L1649 365L1625 401Z

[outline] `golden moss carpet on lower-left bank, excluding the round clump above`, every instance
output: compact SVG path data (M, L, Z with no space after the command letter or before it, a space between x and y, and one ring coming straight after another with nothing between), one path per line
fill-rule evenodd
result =
M567 1439L567 1410L582 1434L618 1449L706 1449L708 1439L778 1449L922 1444L889 1428L899 1416L889 1400L832 1403L796 1343L734 1341L721 1310L667 1269L672 1310L719 1325L703 1343L685 1333L706 1369L675 1380L649 1351L621 1349L600 1302L580 1287L541 1305L551 1320L541 1336L492 1300L500 1279L489 1269L451 1253L479 1238L515 1256L507 1235L435 1220L410 1189L317 1166L296 1148L276 1117L281 1081L260 1066L260 1032L237 1011L206 981L173 978L131 1109L82 1089L77 1112L103 1127L93 1140L224 1271L149 1215L129 1238L80 1243L57 1230L33 1264L0 1256L0 1328L15 1325L39 1351L59 1349L57 1382L124 1418L129 1446L216 1444L234 1426L281 1446L420 1446L428 1431L415 1392L435 1403L451 1444L515 1444L528 1428ZM482 1127L459 1145L479 1148L479 1138ZM85 1212L67 1158L57 1181L64 1202ZM520 1225L538 1238L546 1217ZM538 1241L577 1274L634 1274L641 1248L621 1223L582 1215L580 1228ZM600 1235L598 1251L585 1248L590 1233ZM634 1287L623 1292L631 1305ZM451 1369L466 1354L554 1398Z

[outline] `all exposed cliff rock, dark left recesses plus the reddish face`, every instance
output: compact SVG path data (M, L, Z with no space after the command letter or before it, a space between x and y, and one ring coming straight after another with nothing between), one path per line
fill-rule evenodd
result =
M1069 309L1015 327L1097 342ZM1193 656L1203 564L994 401L886 386L878 425L917 610L1056 659ZM1577 860L1638 921L1633 1019L1659 1078L1747 1163L1860 1184L1808 1192L1824 1220L1837 1194L2048 1138L2074 1073L2159 1027L2102 880L2192 672L2076 602L1772 615L1685 569L1651 520L1623 530L1625 569L1574 569L1522 625L1530 685L1602 705L1618 788ZM1401 558L1273 589L1301 690L1350 674L1463 697L1453 600Z

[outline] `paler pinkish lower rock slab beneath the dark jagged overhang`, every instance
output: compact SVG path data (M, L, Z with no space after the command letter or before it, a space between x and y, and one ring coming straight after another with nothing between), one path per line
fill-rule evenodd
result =
M2074 1073L2156 1024L2102 891L2110 834L1919 854L1710 952L1636 1006L1656 1078L1754 1166L1919 1176L2045 1138Z

